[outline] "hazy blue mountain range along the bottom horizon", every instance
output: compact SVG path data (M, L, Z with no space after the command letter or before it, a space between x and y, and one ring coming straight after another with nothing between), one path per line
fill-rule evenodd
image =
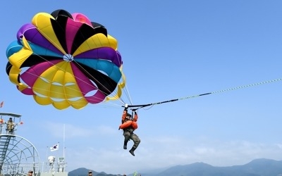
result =
M85 176L87 168L78 168L68 172L68 176ZM106 172L92 171L93 176L120 176ZM207 163L192 163L189 165L176 165L166 169L142 171L142 176L282 176L282 161L271 159L255 159L245 165L216 167ZM127 176L133 176L129 174Z

